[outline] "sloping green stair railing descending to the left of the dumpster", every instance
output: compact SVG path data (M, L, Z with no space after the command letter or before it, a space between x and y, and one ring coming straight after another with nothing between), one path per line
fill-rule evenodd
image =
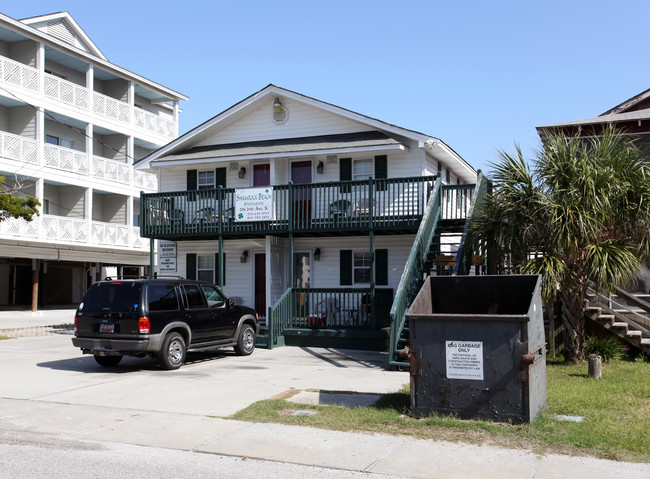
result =
M394 355L397 353L397 343L404 330L406 322L406 309L417 292L419 283L422 283L422 268L427 261L429 247L433 240L440 219L442 202L442 180L436 180L433 192L429 197L426 210L420 223L420 228L415 236L413 248L406 260L404 272L400 278L395 299L390 310L390 365L401 365Z

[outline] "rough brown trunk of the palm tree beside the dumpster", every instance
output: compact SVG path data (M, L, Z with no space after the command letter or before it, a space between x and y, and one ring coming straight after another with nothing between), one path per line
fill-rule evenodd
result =
M564 325L564 359L579 363L585 359L584 298L586 286L560 290L560 316Z

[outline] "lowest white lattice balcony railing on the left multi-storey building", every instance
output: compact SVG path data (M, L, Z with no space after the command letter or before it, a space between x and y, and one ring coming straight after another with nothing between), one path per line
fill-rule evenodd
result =
M139 227L44 214L34 216L32 221L9 218L0 222L0 237L32 239L50 244L149 250L149 241L140 237Z

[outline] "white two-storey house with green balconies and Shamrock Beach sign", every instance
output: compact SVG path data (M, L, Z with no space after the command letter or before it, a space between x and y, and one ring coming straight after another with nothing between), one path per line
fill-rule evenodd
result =
M142 236L175 242L158 272L221 284L311 344L352 330L384 344L436 175L454 211L477 177L437 138L274 85L136 168L160 181Z

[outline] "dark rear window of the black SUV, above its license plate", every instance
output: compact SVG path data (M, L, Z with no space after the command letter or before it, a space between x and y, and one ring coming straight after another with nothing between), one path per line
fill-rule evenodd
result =
M86 312L135 311L140 304L142 285L131 282L95 283L84 296L79 309Z

